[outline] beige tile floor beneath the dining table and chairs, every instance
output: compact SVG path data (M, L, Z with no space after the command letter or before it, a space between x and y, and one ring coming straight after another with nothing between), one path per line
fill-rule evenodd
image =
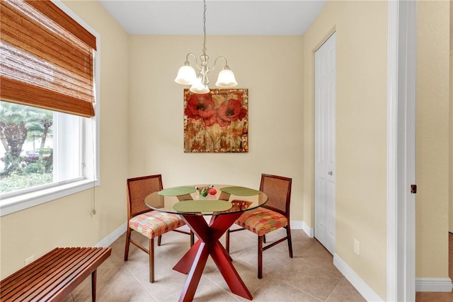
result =
M280 231L267 236L268 242L282 236ZM137 240L147 243L146 238L135 235ZM256 235L248 231L231 234L230 253L234 267L251 291L253 301L365 301L333 266L332 255L316 239L309 238L302 230L292 230L292 237L294 257L289 258L286 243L265 251L263 279L258 279ZM156 248L156 281L153 284L149 283L147 254L131 245L129 260L123 260L125 234L111 247L112 255L98 268L97 301L178 301L186 275L173 271L172 267L189 248L187 235L170 232L162 237L162 245ZM453 301L451 293L418 294L417 301L420 302ZM71 301L91 301L91 278L64 299L64 302ZM229 291L209 258L194 301L248 300Z

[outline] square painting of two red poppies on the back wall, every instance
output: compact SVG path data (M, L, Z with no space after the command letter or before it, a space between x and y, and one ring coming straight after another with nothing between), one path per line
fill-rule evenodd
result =
M248 90L185 88L184 152L248 152Z

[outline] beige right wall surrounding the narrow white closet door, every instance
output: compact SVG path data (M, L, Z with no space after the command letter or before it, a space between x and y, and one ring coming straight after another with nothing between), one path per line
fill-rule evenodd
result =
M328 2L304 35L304 221L314 225L314 51L335 29L336 254L384 299L387 7Z

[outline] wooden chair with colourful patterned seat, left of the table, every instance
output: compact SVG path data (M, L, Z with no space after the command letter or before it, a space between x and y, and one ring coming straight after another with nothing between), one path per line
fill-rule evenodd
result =
M161 245L161 236L168 231L190 234L190 246L193 245L193 232L179 230L184 226L183 219L176 214L162 211L151 211L144 199L152 192L163 189L162 175L149 175L139 178L127 179L127 233L125 247L125 261L129 257L129 245L132 243L137 248L149 255L149 282L154 282L154 238L158 237L157 245ZM137 243L131 238L132 231L142 234L149 239L149 247Z

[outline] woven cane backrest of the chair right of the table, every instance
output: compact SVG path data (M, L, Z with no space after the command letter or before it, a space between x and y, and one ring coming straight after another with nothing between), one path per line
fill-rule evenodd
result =
M283 176L261 174L260 191L268 195L263 207L277 211L289 219L292 179Z

